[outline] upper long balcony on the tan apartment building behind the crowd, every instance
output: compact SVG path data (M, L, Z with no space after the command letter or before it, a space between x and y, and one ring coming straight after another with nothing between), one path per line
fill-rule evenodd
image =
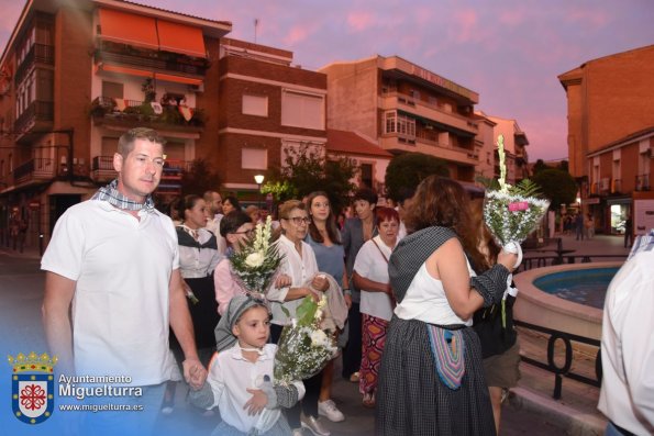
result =
M444 130L453 130L454 133L467 136L477 134L477 124L472 119L447 112L442 105L415 100L401 92L383 93L379 97L378 105L385 111L401 110L414 118L425 120L428 123L431 121Z

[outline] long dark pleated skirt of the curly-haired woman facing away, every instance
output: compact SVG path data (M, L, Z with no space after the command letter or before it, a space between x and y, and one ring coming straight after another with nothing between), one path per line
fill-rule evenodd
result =
M468 327L463 336L465 374L451 390L436 373L426 325L393 316L379 370L377 435L496 434L479 338Z

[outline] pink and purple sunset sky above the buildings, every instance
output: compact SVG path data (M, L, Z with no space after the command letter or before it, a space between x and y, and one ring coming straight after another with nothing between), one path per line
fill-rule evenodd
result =
M654 44L652 0L138 0L231 21L234 38L290 49L318 69L401 56L479 93L477 109L516 119L530 160L567 156L565 91L556 76ZM24 2L0 0L4 47Z

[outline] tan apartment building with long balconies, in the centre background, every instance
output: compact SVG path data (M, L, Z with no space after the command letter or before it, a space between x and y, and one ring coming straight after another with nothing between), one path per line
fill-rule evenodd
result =
M339 62L328 76L330 128L362 133L398 155L445 160L450 176L472 182L479 164L477 92L398 56Z

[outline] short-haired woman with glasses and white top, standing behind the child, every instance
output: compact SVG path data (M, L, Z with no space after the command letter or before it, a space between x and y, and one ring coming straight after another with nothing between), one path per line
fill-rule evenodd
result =
M296 311L302 299L318 295L304 283L311 281L311 288L318 292L324 292L329 288L329 281L325 277L319 275L315 255L309 244L304 242L309 228L309 214L304 203L299 200L289 200L279 208L279 223L281 235L277 241L279 254L284 259L279 267L281 273L290 278L290 286L271 288L268 290L267 298L271 301L270 309L273 320L270 325L270 337L277 344L281 329L290 320L296 316ZM288 311L287 316L285 311ZM308 427L314 435L329 436L330 432L323 427L318 417L318 398L320 395L322 377L312 377L304 380L307 392L301 404L299 403L287 411L288 424L293 428L293 435L300 435L302 427ZM300 421L301 412L304 413L304 420Z

